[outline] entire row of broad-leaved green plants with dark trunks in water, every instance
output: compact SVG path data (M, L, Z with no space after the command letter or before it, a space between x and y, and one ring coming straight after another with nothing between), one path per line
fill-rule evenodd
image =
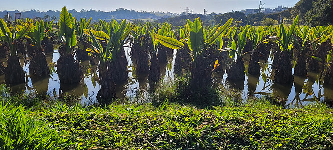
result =
M26 22L18 21L14 26L3 20L0 22L1 43L10 50L6 71L2 71L6 73L6 83L24 82L25 73L17 56L21 44L22 51L25 51L22 39L27 39L30 74L49 75L43 51L46 52L46 45L52 43L45 44L43 41L50 39L48 35L52 31L52 22L27 19ZM129 47L136 72L149 73L148 78L152 82L161 78L159 63L167 62L166 54L176 49L174 71L181 74L189 70L190 88L193 90L207 90L212 84L213 71L224 72L226 69L229 80L244 80L246 72L259 77L259 63L275 68L275 83L292 84L293 75L306 76L307 71L312 71L321 73L325 84L333 84L333 27L299 27L297 22L298 17L290 27L281 24L257 29L250 25L231 27L232 19L225 24L204 26L200 18L193 22L187 20L186 25L176 27L167 23L152 25L150 22L135 25L126 20L100 20L98 24L91 25L91 19L76 20L64 7L57 32L61 44L57 73L61 83L78 83L83 78L79 61L91 59L93 65L93 59L97 58L100 85L97 99L100 103L108 103L116 98L115 84L128 79L124 48ZM246 55L250 55L247 68L244 65ZM272 64L267 64L269 57L273 58ZM4 66L1 65L1 68Z

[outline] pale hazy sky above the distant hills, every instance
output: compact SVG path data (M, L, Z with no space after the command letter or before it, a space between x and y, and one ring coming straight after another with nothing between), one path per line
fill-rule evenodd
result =
M171 13L184 12L186 8L189 12L203 14L204 9L207 13L225 13L240 11L250 8L259 8L260 0L0 0L0 11L18 10L29 11L36 9L39 11L59 10L66 6L68 10L81 9L115 11L118 8L147 11L167 11ZM300 0L262 0L264 8L274 9L278 5L293 7Z

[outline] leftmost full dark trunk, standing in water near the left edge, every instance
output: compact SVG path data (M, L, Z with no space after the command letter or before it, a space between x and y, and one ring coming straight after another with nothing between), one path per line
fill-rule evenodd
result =
M24 83L25 73L23 68L19 64L18 56L8 56L7 64L8 65L5 71L6 84Z

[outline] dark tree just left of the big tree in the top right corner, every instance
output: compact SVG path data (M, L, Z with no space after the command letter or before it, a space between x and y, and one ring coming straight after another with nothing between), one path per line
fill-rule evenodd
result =
M307 11L313 8L313 2L317 0L300 0L298 1L293 9L291 10L292 17L299 15L299 19L305 21L305 14Z

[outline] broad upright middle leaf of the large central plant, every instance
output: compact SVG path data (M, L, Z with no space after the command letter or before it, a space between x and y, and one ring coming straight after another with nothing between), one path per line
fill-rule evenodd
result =
M198 53L202 47L203 29L200 18L196 18L191 31L189 33L188 47L194 52ZM194 54L195 55L195 54Z

